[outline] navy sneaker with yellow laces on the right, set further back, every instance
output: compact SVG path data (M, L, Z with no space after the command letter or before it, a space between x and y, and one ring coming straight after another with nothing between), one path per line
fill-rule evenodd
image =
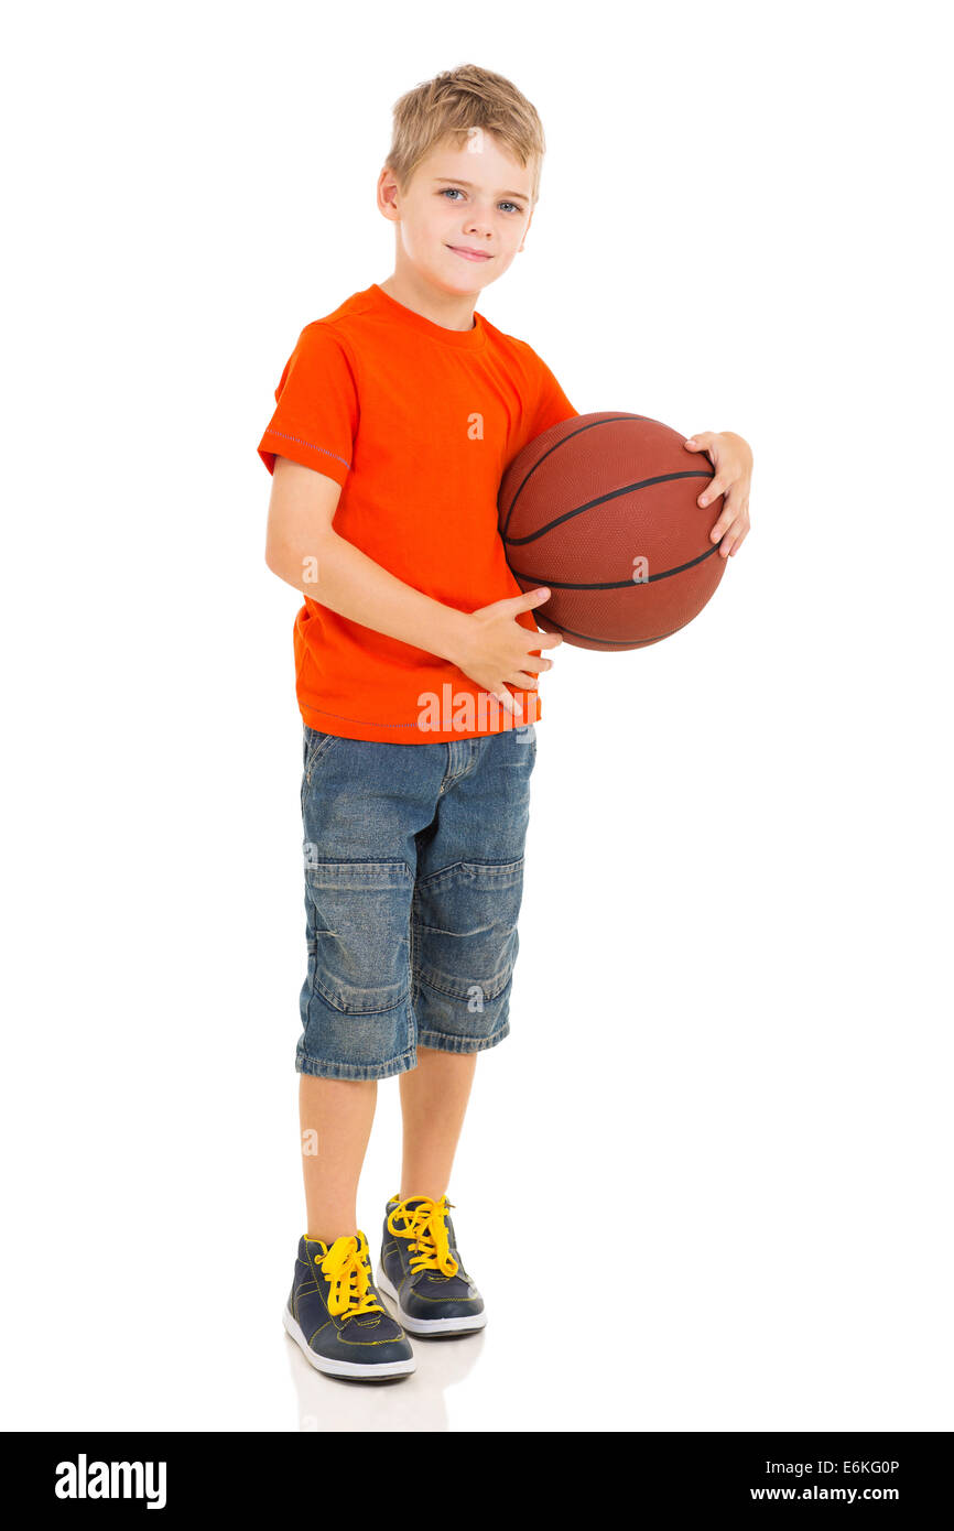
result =
M392 1196L384 1217L378 1286L412 1335L466 1335L487 1323L484 1298L456 1249L446 1196Z

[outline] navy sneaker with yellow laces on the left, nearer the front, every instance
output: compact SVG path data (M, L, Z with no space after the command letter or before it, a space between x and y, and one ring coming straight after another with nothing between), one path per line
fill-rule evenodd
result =
M415 1370L407 1335L375 1291L360 1229L332 1245L302 1236L282 1323L308 1361L329 1376L377 1381Z

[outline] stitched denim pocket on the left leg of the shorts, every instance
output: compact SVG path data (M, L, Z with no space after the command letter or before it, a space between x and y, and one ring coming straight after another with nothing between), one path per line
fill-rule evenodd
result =
M403 860L312 860L305 871L309 980L348 1015L375 1015L410 991L413 876Z

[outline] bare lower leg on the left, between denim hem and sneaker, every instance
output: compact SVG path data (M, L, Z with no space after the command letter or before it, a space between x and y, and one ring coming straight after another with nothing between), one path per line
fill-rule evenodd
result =
M332 1245L357 1234L358 1177L374 1108L377 1079L322 1079L302 1073L299 1112L308 1237Z

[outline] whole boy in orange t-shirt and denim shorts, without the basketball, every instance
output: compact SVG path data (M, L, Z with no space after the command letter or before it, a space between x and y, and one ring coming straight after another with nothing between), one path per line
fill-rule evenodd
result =
M548 591L521 594L507 566L496 493L516 453L577 410L475 302L524 248L544 152L533 106L476 66L397 103L378 179L394 274L305 326L259 446L266 562L305 596L308 1231L283 1321L338 1376L406 1375L406 1330L485 1323L447 1185L476 1055L510 1030L537 678L560 643L531 615ZM730 491L724 556L747 530L750 455L711 432L686 446L712 452L707 498ZM392 1075L403 1170L375 1285L357 1187Z

